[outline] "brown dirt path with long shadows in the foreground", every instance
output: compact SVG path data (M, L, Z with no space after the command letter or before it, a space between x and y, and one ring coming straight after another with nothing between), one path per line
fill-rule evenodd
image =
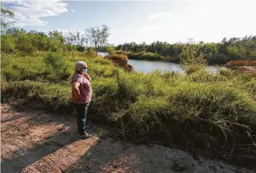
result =
M71 116L18 112L1 104L1 172L251 172L163 146L76 136Z

